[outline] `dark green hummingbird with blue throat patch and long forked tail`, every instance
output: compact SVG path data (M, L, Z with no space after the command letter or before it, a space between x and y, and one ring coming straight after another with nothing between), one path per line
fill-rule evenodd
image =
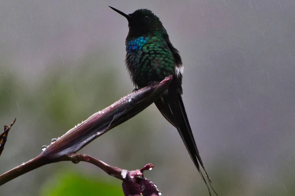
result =
M212 188L211 180L197 148L181 97L183 65L178 50L170 42L167 30L159 17L152 11L138 9L132 14L125 14L114 7L109 7L128 21L129 32L125 41L125 64L135 87L142 88L173 75L168 90L154 103L162 115L177 128L211 195L200 166L204 169L208 183ZM213 188L212 190L214 191ZM216 194L215 191L214 193Z

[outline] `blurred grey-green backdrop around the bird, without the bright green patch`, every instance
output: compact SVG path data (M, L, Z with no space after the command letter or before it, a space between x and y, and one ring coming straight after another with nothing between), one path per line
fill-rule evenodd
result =
M1 173L132 92L127 21L108 5L152 10L180 51L184 104L219 195L295 196L294 0L1 0L0 125L17 118ZM155 164L146 177L166 196L208 195L154 105L81 152L125 169ZM121 186L92 165L68 162L33 170L0 193L59 195L51 191L71 173Z

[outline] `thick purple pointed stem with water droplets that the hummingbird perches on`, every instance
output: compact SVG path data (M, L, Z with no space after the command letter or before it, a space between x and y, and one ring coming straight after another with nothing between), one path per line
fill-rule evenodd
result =
M67 155L76 153L112 128L132 118L151 105L169 86L172 76L158 84L141 88L96 112L87 120L70 129L53 141L37 157L0 175L0 185L41 166L68 160ZM102 162L103 163L103 162Z

